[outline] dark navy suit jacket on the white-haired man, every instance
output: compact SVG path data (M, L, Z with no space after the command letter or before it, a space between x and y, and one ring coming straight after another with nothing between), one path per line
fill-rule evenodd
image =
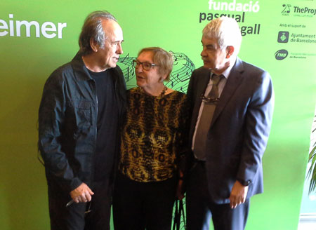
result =
M192 73L187 96L191 101L190 144L210 70ZM274 93L270 74L249 63L232 67L216 106L206 140L206 175L216 203L229 203L237 179L250 181L247 197L263 192L262 157L270 133Z

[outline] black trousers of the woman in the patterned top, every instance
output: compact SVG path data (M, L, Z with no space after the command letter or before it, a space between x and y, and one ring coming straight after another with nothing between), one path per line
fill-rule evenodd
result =
M136 182L118 173L113 194L115 230L170 230L176 179Z

